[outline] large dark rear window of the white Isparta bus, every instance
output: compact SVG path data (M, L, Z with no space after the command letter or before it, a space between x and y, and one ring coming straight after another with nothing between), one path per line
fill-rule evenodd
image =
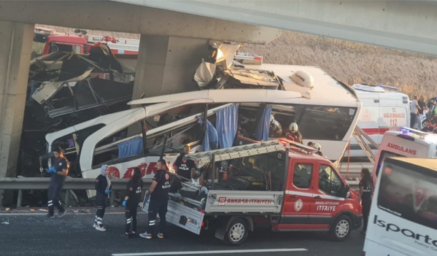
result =
M437 177L408 168L393 164L383 166L378 207L437 230Z

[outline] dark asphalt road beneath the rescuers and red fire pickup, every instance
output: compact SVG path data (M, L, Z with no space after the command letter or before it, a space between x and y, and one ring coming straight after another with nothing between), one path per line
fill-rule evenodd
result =
M345 242L332 242L325 233L271 232L258 229L242 246L226 246L212 232L200 236L168 226L166 239L126 239L124 215L107 214L107 232L92 228L94 214L69 213L61 219L42 215L0 214L0 255L362 255L364 237L355 231ZM6 224L4 222L8 222ZM145 231L146 215L138 215L139 231ZM135 253L135 254L133 254Z

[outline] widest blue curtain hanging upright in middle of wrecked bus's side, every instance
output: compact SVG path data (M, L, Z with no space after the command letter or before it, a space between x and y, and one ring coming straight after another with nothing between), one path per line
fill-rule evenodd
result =
M215 127L219 136L220 148L232 147L237 135L238 104L219 109L216 112L217 121Z

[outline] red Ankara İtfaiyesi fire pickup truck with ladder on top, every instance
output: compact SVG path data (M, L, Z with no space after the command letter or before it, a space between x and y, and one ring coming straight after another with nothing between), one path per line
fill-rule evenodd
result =
M256 224L272 231L326 231L335 241L361 226L357 193L314 148L241 136L234 145L185 155L206 166L205 185L171 189L168 222L195 234L215 230L216 238L231 245L243 243ZM214 166L227 175L208 175ZM143 210L148 211L147 201Z

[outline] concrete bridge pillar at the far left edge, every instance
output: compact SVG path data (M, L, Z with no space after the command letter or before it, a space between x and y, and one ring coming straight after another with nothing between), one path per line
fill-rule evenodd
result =
M16 175L33 37L34 24L0 21L0 178Z

